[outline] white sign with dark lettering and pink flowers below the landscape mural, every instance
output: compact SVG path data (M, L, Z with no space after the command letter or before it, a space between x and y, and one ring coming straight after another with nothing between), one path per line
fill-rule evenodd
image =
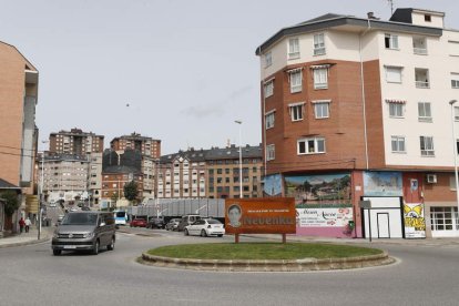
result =
M344 227L353 221L353 207L297 208L299 227Z

